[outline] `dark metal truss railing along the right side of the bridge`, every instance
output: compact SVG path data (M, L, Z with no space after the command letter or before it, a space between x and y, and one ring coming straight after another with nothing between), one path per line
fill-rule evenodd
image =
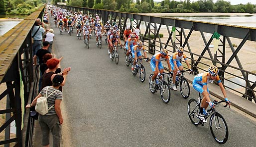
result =
M143 27L144 32L140 29L141 33L143 33L143 35L140 34L140 39L143 41L144 45L148 47L149 53L154 54L164 48L168 49L170 51L169 55L171 55L172 52L175 52L177 47L182 46L185 48L187 55L189 55L188 58L191 61L190 65L195 73L206 71L209 65L217 65L220 69L219 76L224 83L225 88L231 90L231 92L237 95L240 95L241 97L250 101L253 99L256 102L256 81L249 80L249 76L256 76L256 74L252 72L253 70L245 70L240 58L238 57L238 53L244 47L246 41L252 41L256 44L256 28L149 16L150 14L142 15L104 9L65 5L57 6L72 10L73 12L83 11L84 13L92 14L93 16L98 14L102 18L103 22L113 22L113 20L116 19L120 28L121 37L123 37L124 30L127 26L133 29L136 25L140 28ZM175 31L173 31L172 28L174 28ZM161 39L160 34L166 32L168 33L167 38L165 40ZM203 42L200 43L202 46L204 45L201 52L192 50L192 47L189 44L192 40L191 36L193 36L193 33L195 32L200 33L202 37L201 39L203 40ZM210 45L213 42L213 34L215 32L218 32L221 37L217 52L212 53ZM172 38L173 34L176 35L175 39ZM208 37L205 34L207 34ZM151 39L150 36L153 36L153 39ZM240 39L241 41L237 49L233 47L231 41L234 38ZM229 49L226 49L226 46ZM231 56L227 55L228 51L232 51ZM226 61L226 59L228 59L228 61ZM233 59L236 60L238 66L231 65ZM230 72L229 69L232 69L233 71ZM242 77L238 76L238 74L242 74ZM245 84L238 84L237 82L232 81L232 78L241 79ZM234 84L234 86L231 86L232 84Z

